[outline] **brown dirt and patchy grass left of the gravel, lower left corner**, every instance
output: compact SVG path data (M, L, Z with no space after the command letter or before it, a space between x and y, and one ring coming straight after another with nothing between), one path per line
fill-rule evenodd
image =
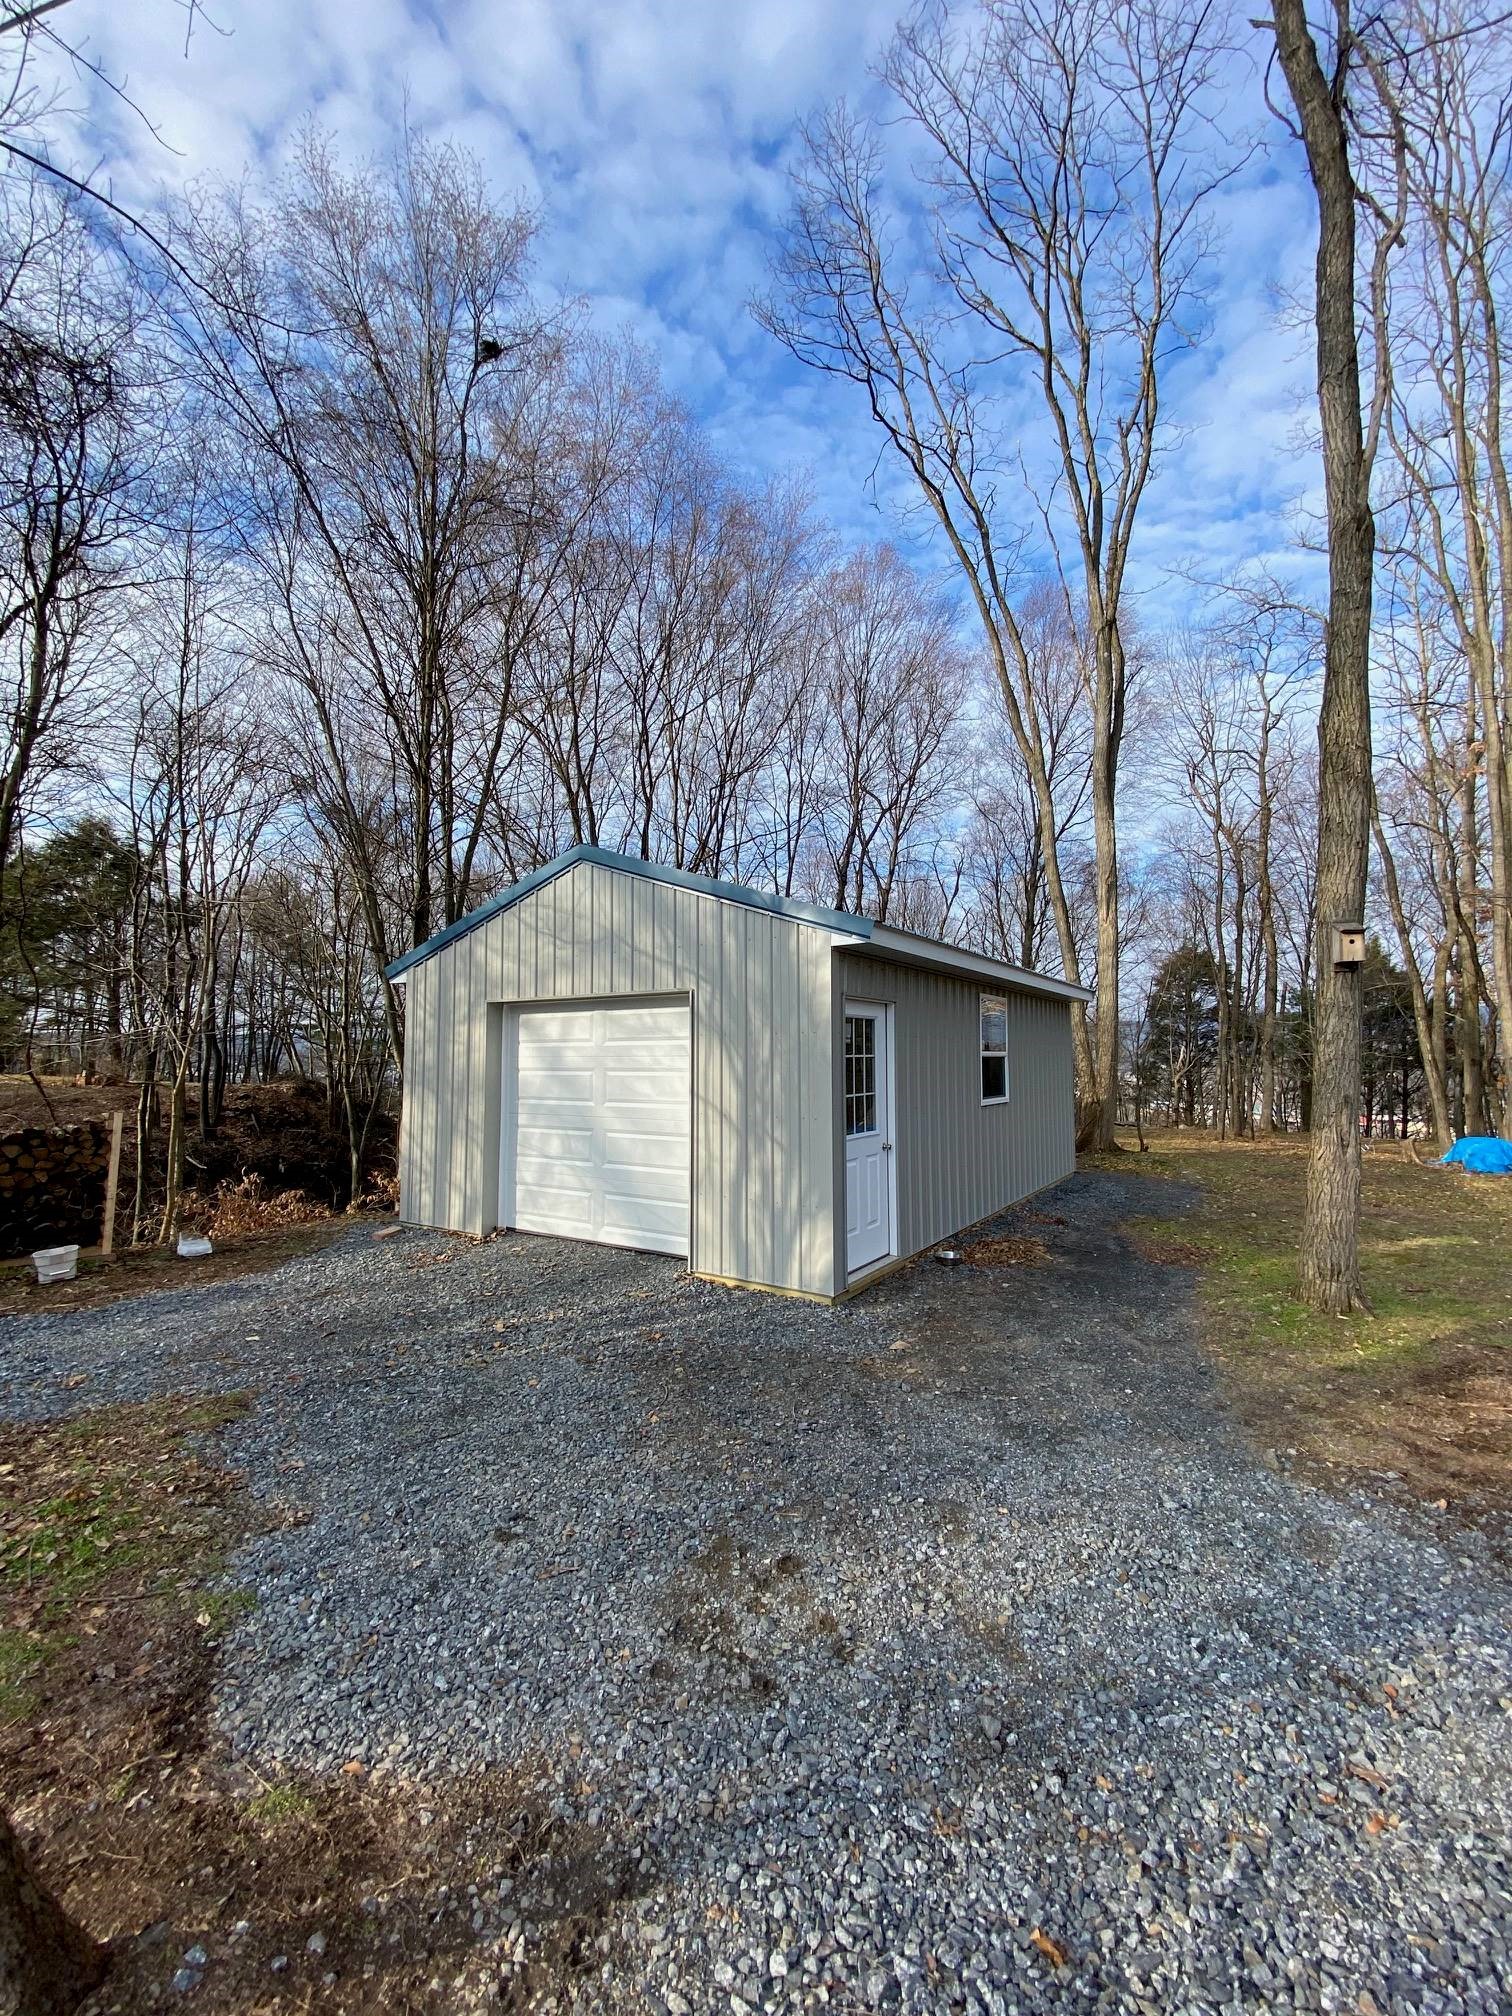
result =
M202 1443L244 1405L169 1399L0 1435L0 1796L109 1945L83 2016L145 2016L175 1984L224 2016L439 2012L484 1988L504 2008L554 2002L603 1964L649 1875L548 1812L530 1772L446 1788L355 1760L262 1776L214 1738L220 1639L244 1607L218 1579L252 1504Z

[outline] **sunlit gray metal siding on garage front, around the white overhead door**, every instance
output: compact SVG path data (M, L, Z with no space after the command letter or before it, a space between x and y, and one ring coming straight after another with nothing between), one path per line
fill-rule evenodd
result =
M831 937L816 925L579 863L409 972L403 1218L474 1234L496 1224L498 1004L685 992L689 1264L833 1294L843 1280L831 966Z

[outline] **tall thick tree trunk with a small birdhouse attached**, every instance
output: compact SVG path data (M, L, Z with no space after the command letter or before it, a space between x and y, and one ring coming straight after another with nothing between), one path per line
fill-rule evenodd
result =
M1371 804L1371 589L1375 518L1361 417L1355 327L1355 175L1345 87L1349 14L1325 77L1302 0L1276 0L1276 56L1298 113L1318 200L1316 375L1329 506L1329 627L1318 714L1318 976L1312 1054L1312 1153L1302 1220L1302 1298L1329 1314L1365 1308L1359 1272L1361 966L1333 962L1333 929L1365 917Z

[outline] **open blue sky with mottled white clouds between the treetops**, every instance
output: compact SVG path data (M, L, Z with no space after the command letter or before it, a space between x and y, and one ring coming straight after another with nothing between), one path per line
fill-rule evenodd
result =
M210 0L183 46L175 0L71 0L69 32L129 85L161 139L109 99L58 153L145 202L200 175L276 165L314 115L353 157L411 119L470 147L540 210L544 286L629 327L720 450L754 478L802 470L851 538L923 556L877 464L861 395L786 359L746 302L786 210L794 119L863 97L899 0ZM69 97L83 105L85 83ZM1316 484L1298 442L1310 357L1280 302L1304 292L1310 198L1232 67L1232 123L1270 147L1224 192L1212 333L1169 379L1181 444L1149 494L1135 581L1149 619L1193 607L1183 571L1286 560L1288 506ZM69 137L73 131L73 139ZM89 141L83 133L89 131Z

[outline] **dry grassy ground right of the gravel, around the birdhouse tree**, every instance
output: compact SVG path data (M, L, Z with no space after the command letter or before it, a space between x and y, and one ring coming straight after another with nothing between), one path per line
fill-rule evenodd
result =
M1195 1212L1129 1234L1200 1270L1208 1347L1266 1441L1470 1512L1512 1506L1512 1181L1369 1149L1371 1312L1318 1316L1294 1294L1306 1141L1165 1133L1119 1167L1198 1187Z

